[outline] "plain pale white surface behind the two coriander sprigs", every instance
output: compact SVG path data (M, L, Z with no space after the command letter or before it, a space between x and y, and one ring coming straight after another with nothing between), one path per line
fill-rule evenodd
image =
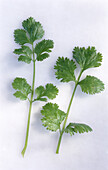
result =
M108 170L108 1L106 0L1 0L0 1L0 170ZM40 109L34 104L29 144L25 158L24 145L28 104L12 95L11 82L16 76L31 83L32 65L18 63L12 51L13 31L29 16L40 21L46 39L53 39L51 57L37 64L36 86L52 82L60 89L53 100L67 110L72 93L71 83L60 83L53 65L58 56L71 58L75 46L95 46L103 54L102 66L86 74L95 75L105 83L105 91L90 96L77 89L69 121L83 122L92 133L64 135L60 154L55 150L58 134L41 125ZM70 113L71 113L70 112Z

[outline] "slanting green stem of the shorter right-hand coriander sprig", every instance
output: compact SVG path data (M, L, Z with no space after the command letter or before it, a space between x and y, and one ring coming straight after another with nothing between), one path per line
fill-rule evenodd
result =
M74 98L74 95L75 95L75 91L76 91L78 82L79 82L80 77L81 77L81 75L82 75L82 72L83 72L83 70L81 70L81 72L80 72L80 74L79 74L79 76L78 76L78 79L77 79L77 81L76 81L76 83L75 83L75 87L74 87L74 90L73 90L73 93L72 93L72 97L71 97L71 99L70 99L69 106L68 106L68 109L67 109L66 118L65 118L65 120L64 120L63 127L62 127L62 130L61 130L60 136L59 136L59 141L58 141L58 145L57 145L57 149L56 149L56 154L59 153L59 148L60 148L60 144L61 144L61 139L62 139L64 130L65 130L65 127L66 127L66 122L67 122L67 119L68 119L68 115L69 115L69 111L70 111L70 108L71 108L71 104L72 104L72 101L73 101L73 98Z

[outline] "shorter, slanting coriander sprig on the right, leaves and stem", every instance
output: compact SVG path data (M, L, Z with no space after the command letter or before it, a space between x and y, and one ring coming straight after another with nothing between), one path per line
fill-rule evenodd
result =
M82 123L72 122L69 123L69 125L66 125L77 86L80 85L82 92L87 94L100 93L104 90L103 82L94 76L87 75L85 79L80 80L83 72L86 69L99 67L101 65L102 55L96 52L95 47L88 47L87 49L85 49L84 47L75 47L73 50L73 58L74 60L69 60L68 58L59 57L56 61L56 65L54 66L57 79L60 79L61 82L73 81L75 84L67 112L64 113L63 111L58 109L57 104L52 103L47 103L45 106L43 106L43 109L41 110L41 113L43 115L43 126L47 127L47 129L51 131L59 130L60 136L56 149L57 154L59 153L59 148L64 133L69 133L72 136L74 135L74 133L77 132L84 133L92 131L91 127ZM78 78L76 78L74 74L75 69L77 68L76 62L80 66ZM61 125L61 123L63 125Z

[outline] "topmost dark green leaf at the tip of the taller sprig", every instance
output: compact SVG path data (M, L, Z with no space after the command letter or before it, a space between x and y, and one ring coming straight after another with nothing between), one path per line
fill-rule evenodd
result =
M44 35L42 25L39 22L36 22L32 17L24 20L22 26L29 34L31 43L33 43L35 40L41 39Z

